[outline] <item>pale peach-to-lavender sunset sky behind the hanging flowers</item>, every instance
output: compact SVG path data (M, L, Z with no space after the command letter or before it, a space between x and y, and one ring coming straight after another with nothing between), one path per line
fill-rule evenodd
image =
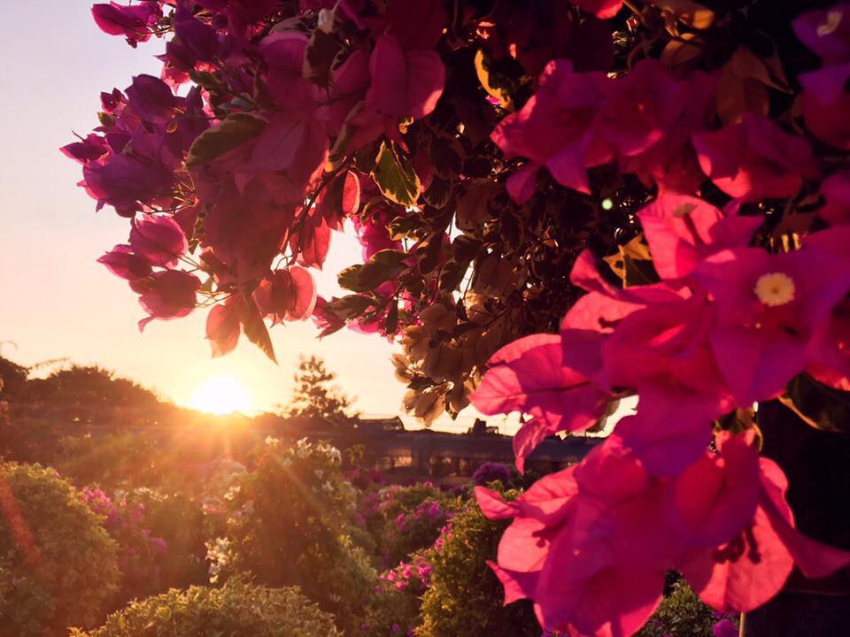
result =
M101 365L180 404L208 380L233 377L259 410L286 403L298 355L315 354L338 374L344 393L357 397L360 411L398 413L405 387L390 364L397 346L376 335L343 330L319 341L312 322L276 326L274 365L244 340L213 359L202 311L154 321L139 334L144 313L136 295L95 262L127 241L128 221L108 207L95 212L95 201L76 185L80 165L58 148L74 141L73 132L97 126L101 91L126 88L139 73L158 75L153 56L165 44L154 39L134 50L101 33L90 5L0 1L0 342L14 343L0 353L21 365L63 357ZM338 292L336 272L357 257L359 244L335 234L317 276L320 293ZM435 428L466 430L474 418L468 410L457 423L444 418Z

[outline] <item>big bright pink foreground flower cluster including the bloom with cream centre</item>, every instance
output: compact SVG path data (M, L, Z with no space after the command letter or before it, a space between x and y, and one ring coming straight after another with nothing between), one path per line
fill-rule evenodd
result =
M577 467L515 503L477 491L488 516L514 517L494 565L507 598L533 598L545 627L579 634L636 631L668 569L715 608L744 611L776 595L794 564L823 577L850 563L794 530L787 481L759 458L752 430L712 426L780 395L800 372L848 387L848 228L770 254L747 247L761 218L696 198L662 196L638 219L661 282L613 288L585 252L572 280L588 293L561 333L499 351L472 397L486 413L533 417L514 437L522 469L549 435L595 424L616 396L639 396L637 414Z

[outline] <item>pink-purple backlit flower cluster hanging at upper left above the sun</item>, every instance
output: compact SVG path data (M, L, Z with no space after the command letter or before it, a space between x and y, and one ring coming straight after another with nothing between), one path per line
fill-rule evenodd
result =
M321 267L331 231L359 206L349 161L331 171L328 160L384 134L406 148L399 122L429 115L444 87L434 50L448 20L441 4L399 0L365 17L360 4L301 3L292 16L271 0L93 7L104 32L133 45L173 33L161 79L140 75L104 94L101 127L62 149L82 164L98 208L131 220L129 242L100 261L140 295L141 327L187 315L201 295L213 305L206 335L219 356L240 331L262 345L264 318L313 314L305 268ZM309 35L270 28L320 9L367 35L323 78L305 73ZM178 96L190 79L200 86Z

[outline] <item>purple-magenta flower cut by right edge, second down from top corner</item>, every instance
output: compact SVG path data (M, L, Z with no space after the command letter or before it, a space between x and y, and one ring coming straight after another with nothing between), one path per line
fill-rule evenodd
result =
M820 141L842 150L850 150L850 123L846 118L850 109L848 79L850 63L826 66L800 76L805 89L802 106L806 128Z

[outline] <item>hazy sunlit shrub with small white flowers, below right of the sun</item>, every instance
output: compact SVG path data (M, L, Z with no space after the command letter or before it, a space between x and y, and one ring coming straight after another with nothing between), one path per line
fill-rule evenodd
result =
M227 528L209 544L211 579L250 572L266 586L300 586L353 634L377 585L366 552L346 532L354 500L336 449L270 439L256 471L225 497Z

